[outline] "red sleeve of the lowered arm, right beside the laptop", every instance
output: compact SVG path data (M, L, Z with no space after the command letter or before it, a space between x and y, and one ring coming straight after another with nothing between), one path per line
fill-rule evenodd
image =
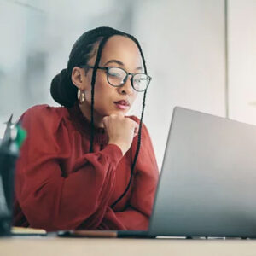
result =
M139 119L132 117L137 123ZM131 145L134 156L137 148L137 137ZM141 148L135 166L135 176L131 186L131 198L124 211L114 212L108 207L103 219L104 229L113 229L114 223L121 223L125 230L148 230L149 218L153 209L154 195L159 179L154 148L147 130L142 127Z

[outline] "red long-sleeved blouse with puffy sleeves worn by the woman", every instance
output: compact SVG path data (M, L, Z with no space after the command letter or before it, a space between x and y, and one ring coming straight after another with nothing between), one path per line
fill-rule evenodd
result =
M139 121L136 117L131 117ZM137 137L122 156L79 106L32 107L21 116L27 131L16 165L14 225L44 230L147 230L159 172L147 128L131 188L115 207L131 175Z

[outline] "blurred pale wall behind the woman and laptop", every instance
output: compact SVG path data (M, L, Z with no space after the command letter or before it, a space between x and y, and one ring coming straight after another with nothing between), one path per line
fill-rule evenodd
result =
M256 125L256 0L0 0L0 138L96 26L129 32L153 77L144 115L159 166L175 106ZM140 116L138 98L131 114Z

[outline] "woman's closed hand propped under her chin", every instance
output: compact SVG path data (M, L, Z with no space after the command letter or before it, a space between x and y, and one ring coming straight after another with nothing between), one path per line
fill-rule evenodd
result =
M108 144L118 145L125 155L137 135L137 123L121 114L110 114L103 118L103 125L108 133Z

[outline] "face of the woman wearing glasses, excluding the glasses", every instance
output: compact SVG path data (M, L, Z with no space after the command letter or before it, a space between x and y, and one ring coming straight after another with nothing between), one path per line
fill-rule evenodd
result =
M96 55L88 65L94 66ZM108 39L102 50L99 67L122 67L127 73L143 72L140 51L130 38L113 36ZM84 73L85 102L80 105L84 115L90 119L91 77L93 69ZM108 84L105 70L97 69L94 95L94 118L96 125L102 126L102 118L112 113L125 114L137 97L137 91L131 86L131 76L121 87Z

